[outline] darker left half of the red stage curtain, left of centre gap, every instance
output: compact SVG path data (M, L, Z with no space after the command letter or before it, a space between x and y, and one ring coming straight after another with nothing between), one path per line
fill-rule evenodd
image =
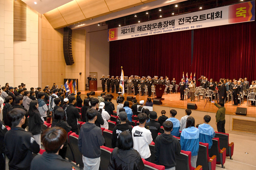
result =
M112 41L110 75L120 76L121 66L125 76L168 76L180 81L183 71L190 72L191 31Z

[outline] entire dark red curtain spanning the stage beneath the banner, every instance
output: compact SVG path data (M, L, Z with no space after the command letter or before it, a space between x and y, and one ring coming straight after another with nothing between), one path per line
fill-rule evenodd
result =
M110 75L256 79L256 22L110 42ZM192 43L191 43L192 42ZM193 46L193 49L191 48ZM191 55L193 51L193 55ZM192 62L191 62L192 61ZM186 76L186 75L185 75Z

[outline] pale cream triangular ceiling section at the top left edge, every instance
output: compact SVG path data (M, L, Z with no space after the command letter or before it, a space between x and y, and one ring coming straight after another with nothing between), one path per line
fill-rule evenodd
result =
M43 14L49 12L59 6L62 6L72 0L22 0L28 6ZM36 2L36 4L34 4Z

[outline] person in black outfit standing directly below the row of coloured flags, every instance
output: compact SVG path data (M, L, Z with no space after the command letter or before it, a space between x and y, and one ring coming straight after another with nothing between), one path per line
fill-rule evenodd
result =
M71 96L69 98L69 106L67 106L65 109L65 114L66 114L68 125L72 127L71 131L79 135L77 119L80 118L80 114L78 112L78 109L74 105L75 103L76 103L75 96Z

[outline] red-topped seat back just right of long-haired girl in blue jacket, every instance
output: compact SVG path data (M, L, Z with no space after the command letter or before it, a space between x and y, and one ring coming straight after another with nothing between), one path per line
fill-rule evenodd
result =
M201 142L199 144L199 150L197 155L197 166L201 165L203 170L208 170L208 143L207 146L203 145Z

